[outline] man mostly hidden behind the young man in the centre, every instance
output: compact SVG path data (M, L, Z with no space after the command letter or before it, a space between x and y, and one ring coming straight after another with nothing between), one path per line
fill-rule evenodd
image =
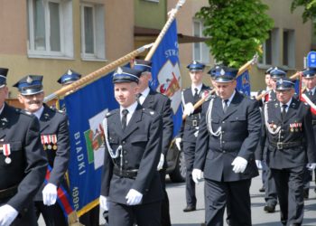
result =
M139 94L138 102L143 108L153 109L156 113L159 113L163 118L163 146L162 154L160 157L157 170L160 173L162 185L163 185L163 203L162 203L162 225L172 225L169 213L169 199L168 194L165 190L165 175L167 169L166 156L169 150L169 146L172 142L173 135L173 121L172 121L172 108L171 100L149 88L148 82L152 80L152 62L144 60L135 60L134 69L143 71L139 79Z

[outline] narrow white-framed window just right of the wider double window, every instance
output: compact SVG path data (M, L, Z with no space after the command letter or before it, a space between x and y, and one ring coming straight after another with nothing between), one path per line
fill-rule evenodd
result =
M104 60L104 5L81 4L81 57L84 60Z

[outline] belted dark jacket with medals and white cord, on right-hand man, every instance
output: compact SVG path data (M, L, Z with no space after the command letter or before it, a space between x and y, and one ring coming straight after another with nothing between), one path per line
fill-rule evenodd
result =
M268 165L271 168L283 169L305 165L306 161L308 163L315 163L315 141L311 126L310 107L293 98L283 121L279 101L268 102L267 112L269 126L281 126L281 135L279 133L273 135L265 129L269 144ZM277 149L271 145L271 142L302 142L302 145Z

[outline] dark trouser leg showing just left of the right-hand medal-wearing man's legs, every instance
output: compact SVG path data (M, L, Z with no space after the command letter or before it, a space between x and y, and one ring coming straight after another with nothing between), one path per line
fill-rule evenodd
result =
M277 193L274 177L272 176L271 169L268 165L266 165L265 168L265 203L274 206L277 203Z

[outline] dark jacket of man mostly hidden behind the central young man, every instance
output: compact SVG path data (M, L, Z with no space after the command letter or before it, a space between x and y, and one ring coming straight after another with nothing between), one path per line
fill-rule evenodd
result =
M173 121L171 101L163 94L150 89L148 96L144 99L143 108L153 109L163 118L163 155L167 156L169 146L172 142Z

